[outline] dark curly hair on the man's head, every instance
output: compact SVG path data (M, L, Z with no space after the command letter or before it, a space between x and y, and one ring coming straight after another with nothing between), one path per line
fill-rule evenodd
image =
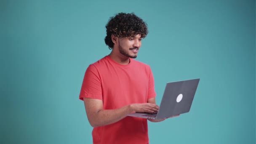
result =
M140 34L141 38L148 34L147 24L134 13L118 13L115 17L110 17L106 29L105 43L110 50L114 46L111 39L112 34L117 37L131 37Z

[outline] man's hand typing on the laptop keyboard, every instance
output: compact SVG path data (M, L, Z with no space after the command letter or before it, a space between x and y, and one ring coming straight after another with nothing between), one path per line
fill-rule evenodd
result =
M154 113L154 112L158 112L159 106L151 103L131 104L131 109L133 112Z

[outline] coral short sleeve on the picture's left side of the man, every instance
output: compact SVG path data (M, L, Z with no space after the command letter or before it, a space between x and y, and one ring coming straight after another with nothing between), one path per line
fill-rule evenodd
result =
M93 64L85 71L79 99L92 98L102 100L102 88L99 72Z

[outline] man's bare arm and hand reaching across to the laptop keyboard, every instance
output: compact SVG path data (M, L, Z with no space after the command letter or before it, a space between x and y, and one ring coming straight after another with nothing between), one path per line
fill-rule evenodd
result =
M156 104L130 104L118 109L103 109L103 103L99 99L83 98L85 111L92 127L115 123L132 112L157 112Z

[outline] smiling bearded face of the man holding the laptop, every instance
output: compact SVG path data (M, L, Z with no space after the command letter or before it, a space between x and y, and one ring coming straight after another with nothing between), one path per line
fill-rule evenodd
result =
M136 58L141 46L141 35L118 39L119 52L126 57Z

